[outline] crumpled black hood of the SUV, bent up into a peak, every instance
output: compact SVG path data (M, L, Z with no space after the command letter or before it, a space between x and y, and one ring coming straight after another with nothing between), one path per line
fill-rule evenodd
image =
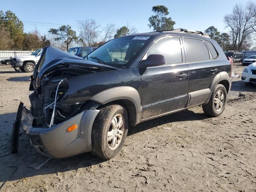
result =
M67 68L71 64L85 68L97 68L100 70L117 69L112 66L87 61L68 52L64 52L60 49L48 46L43 49L42 56L34 70L33 78L36 80L36 82L34 82L34 88L40 86L41 78L45 74L48 74L54 70L59 70L60 68Z

